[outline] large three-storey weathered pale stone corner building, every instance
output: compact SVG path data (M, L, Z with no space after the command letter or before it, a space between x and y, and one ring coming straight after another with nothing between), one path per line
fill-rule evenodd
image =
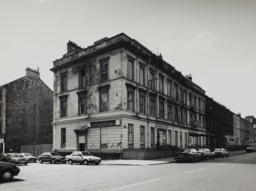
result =
M53 62L53 151L206 145L205 91L125 33Z

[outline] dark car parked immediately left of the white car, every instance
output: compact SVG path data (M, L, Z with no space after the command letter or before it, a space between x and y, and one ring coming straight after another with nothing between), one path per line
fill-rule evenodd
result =
M50 164L56 164L56 163L66 163L65 158L60 156L57 152L44 152L40 156L37 157L40 164L43 162L50 162Z

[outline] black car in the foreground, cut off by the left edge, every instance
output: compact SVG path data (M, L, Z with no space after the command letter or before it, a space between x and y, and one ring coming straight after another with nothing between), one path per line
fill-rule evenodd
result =
M0 161L0 182L11 180L19 172L20 168L18 165Z

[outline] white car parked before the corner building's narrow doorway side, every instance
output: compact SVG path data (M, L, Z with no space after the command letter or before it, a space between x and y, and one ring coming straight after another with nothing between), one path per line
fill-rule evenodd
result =
M86 151L73 151L72 154L66 155L66 161L70 164L79 163L79 164L100 164L102 159L92 156L89 152Z

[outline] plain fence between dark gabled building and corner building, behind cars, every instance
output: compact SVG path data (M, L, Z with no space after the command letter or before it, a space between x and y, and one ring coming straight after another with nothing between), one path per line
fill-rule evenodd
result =
M21 152L28 152L35 157L42 154L43 152L51 152L52 149L53 149L53 144L21 145Z

